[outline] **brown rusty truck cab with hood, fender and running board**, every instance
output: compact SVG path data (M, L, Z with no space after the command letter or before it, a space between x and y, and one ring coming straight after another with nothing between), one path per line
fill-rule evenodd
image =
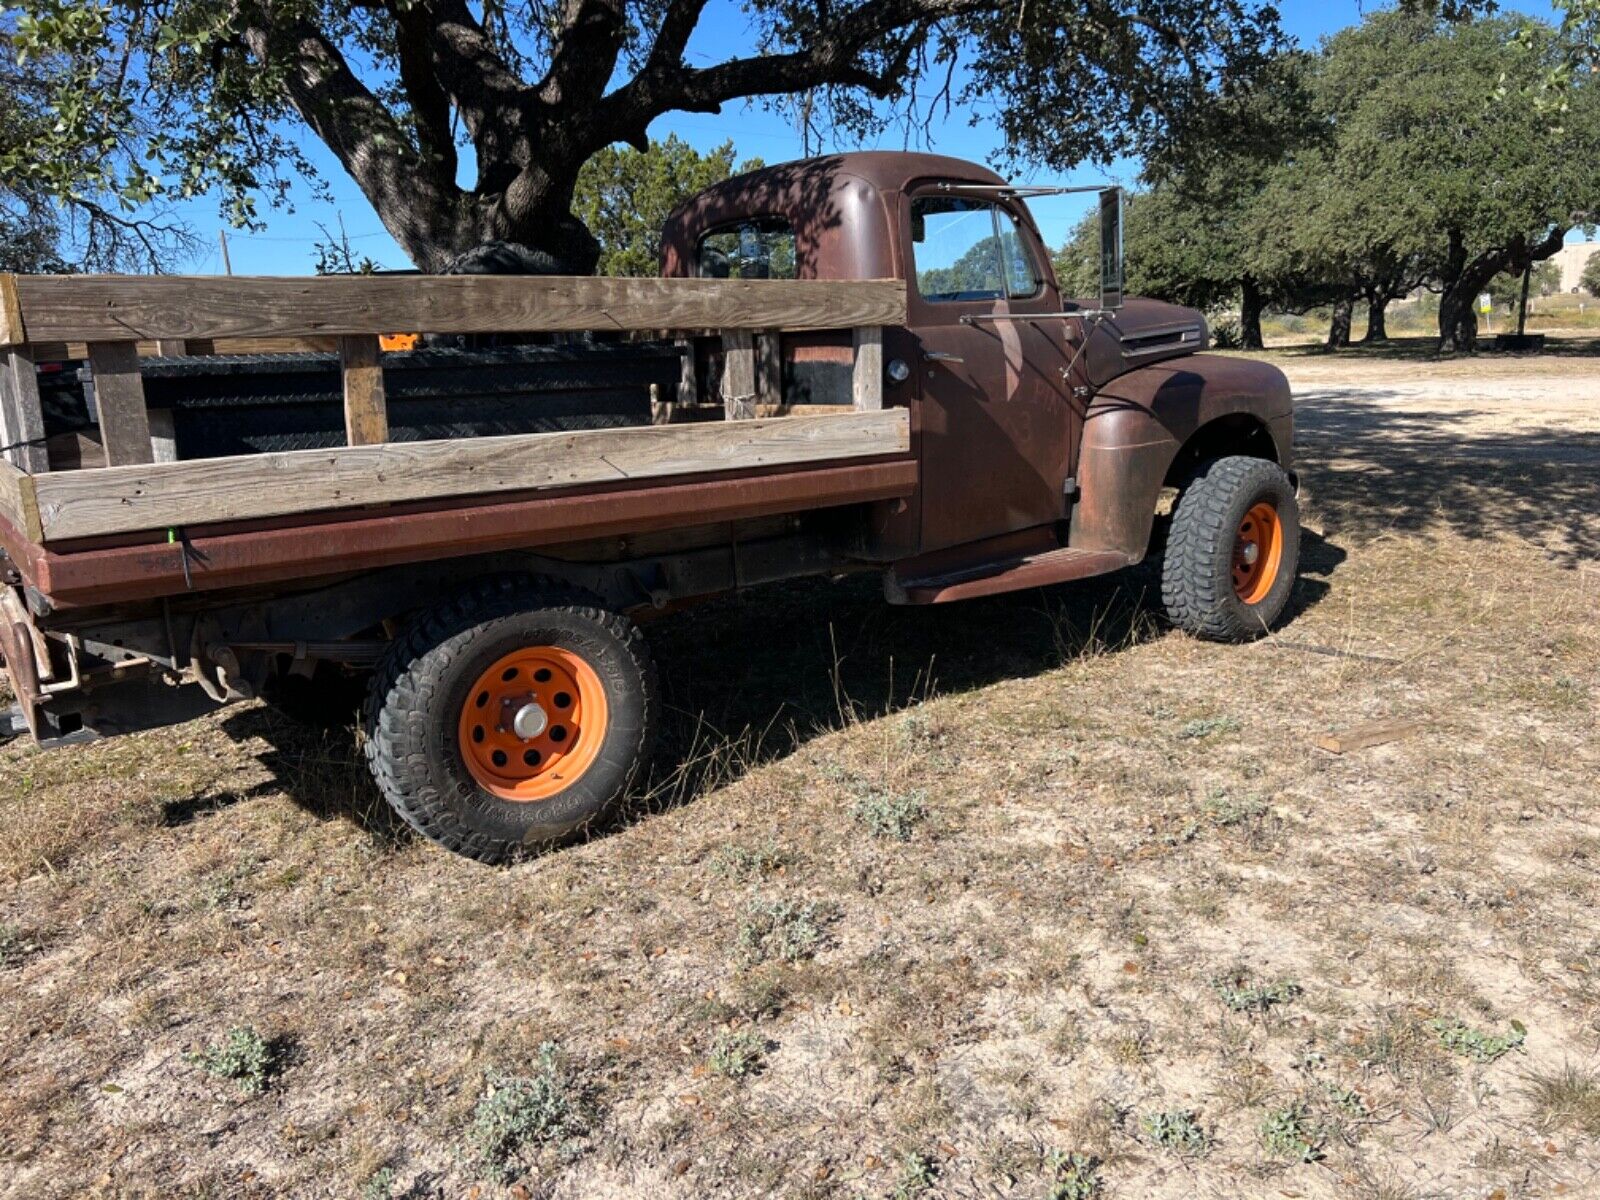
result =
M912 413L920 486L861 547L893 563L893 600L1138 563L1163 496L1222 456L1293 478L1282 371L1205 354L1192 309L1064 296L1024 189L958 158L842 154L738 176L672 214L662 274L904 280L907 323L885 331L885 403ZM782 338L789 394L848 403L846 350Z

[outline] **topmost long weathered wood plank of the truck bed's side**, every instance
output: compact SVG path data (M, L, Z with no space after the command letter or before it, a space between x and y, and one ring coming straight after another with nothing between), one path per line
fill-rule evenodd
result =
M19 275L16 293L34 342L906 323L901 280Z

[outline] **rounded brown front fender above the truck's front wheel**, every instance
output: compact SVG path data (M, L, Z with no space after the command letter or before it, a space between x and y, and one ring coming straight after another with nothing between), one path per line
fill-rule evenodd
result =
M1232 437L1235 453L1259 453L1248 445L1250 434L1266 430L1272 458L1293 469L1294 400L1283 371L1197 354L1107 384L1083 421L1069 544L1142 560L1173 462L1208 430L1221 438L1216 453L1222 454Z

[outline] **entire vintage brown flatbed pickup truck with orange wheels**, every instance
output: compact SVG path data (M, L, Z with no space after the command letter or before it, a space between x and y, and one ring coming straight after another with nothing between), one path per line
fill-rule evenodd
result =
M389 803L501 862L640 778L640 614L858 571L949 603L1154 546L1176 626L1261 635L1299 549L1283 374L1123 302L1120 194L1102 296L1062 296L1027 195L846 154L696 197L659 280L0 277L14 720L64 746L259 698L354 725L358 688Z

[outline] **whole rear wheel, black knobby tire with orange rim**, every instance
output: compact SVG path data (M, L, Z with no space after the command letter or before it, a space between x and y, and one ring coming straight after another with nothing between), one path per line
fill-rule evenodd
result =
M643 637L594 597L494 579L419 616L366 701L389 803L459 854L507 862L603 819L654 726Z

